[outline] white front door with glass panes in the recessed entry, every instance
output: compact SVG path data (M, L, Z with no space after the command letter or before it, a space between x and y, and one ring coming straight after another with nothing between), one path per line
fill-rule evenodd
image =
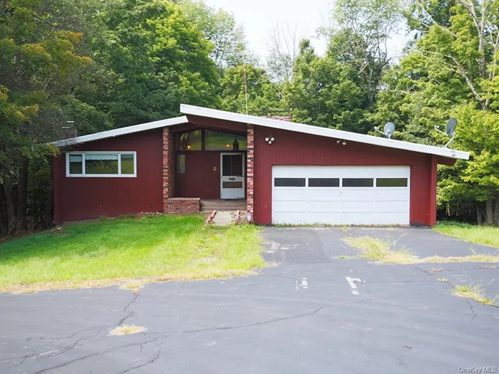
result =
M220 154L220 198L245 198L245 154Z

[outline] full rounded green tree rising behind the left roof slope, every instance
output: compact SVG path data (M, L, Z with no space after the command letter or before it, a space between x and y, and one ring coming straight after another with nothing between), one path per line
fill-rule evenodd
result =
M104 31L91 42L91 56L103 73L86 100L109 113L116 126L173 117L180 103L217 104L212 43L180 6L108 1L101 19Z

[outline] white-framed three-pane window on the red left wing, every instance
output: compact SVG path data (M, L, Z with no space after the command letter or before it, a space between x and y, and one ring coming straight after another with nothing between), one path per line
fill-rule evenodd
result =
M135 177L135 152L68 153L67 177Z

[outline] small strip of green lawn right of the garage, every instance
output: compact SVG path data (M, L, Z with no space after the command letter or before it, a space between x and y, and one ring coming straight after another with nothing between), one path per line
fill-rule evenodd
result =
M433 228L441 234L470 243L499 247L499 227L475 226L460 222L441 222Z

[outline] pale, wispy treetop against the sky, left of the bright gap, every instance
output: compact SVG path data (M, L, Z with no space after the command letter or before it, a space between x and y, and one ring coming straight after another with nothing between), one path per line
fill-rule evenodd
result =
M193 21L215 46L210 56L218 68L249 62L244 28L236 23L232 14L208 6L202 0L180 0L178 4L187 19Z

